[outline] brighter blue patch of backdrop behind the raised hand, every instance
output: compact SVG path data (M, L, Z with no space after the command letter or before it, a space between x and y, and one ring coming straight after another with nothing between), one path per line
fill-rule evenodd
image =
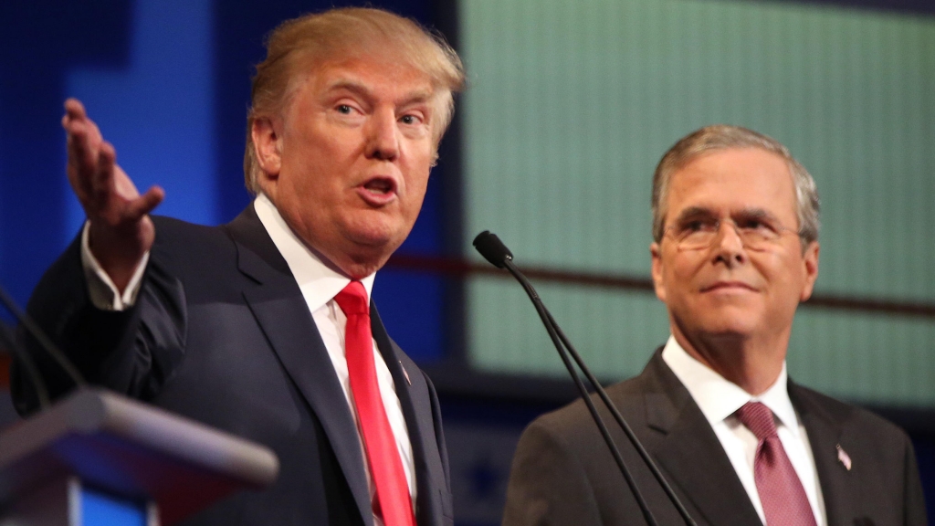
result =
M131 19L127 67L76 68L66 95L84 102L140 192L165 188L156 213L216 224L211 2L137 0ZM78 199L65 195L63 244L84 222Z

